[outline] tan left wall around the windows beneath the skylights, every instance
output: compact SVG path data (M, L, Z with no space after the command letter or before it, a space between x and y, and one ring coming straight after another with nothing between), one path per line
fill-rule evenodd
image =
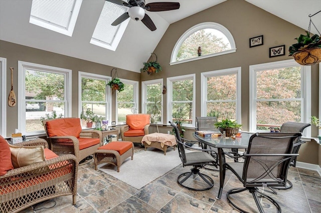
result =
M0 57L7 58L7 71L9 67L14 67L14 91L17 96L17 102L22 97L18 96L18 60L38 63L43 65L61 67L72 70L72 116L78 117L78 71L91 72L95 74L110 76L112 66L95 63L79 58L69 57L41 49L19 45L7 41L0 40ZM108 60L108 58L106 58ZM130 80L140 80L140 73L132 72L117 68L120 78ZM114 71L113 71L114 74ZM11 74L7 72L7 91L11 90ZM116 91L112 91L112 102L115 103ZM113 104L112 111L115 111ZM112 120L115 120L115 113L112 113ZM18 126L18 107L10 107L7 104L7 135L11 135Z

